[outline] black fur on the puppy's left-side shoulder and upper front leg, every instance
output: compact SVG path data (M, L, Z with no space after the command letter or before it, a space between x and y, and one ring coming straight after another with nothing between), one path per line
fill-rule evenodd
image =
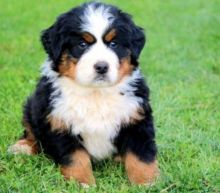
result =
M51 112L51 94L53 88L46 77L42 77L36 92L27 100L24 106L24 120L31 125L32 132L39 147L56 163L68 164L68 155L75 149L82 148L79 136L69 133L51 131L47 116ZM57 96L53 96L57 97Z

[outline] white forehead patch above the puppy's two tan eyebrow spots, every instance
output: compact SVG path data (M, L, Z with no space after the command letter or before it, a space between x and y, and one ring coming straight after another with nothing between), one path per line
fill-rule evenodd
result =
M95 7L95 4L90 4L86 7L82 17L82 30L90 32L96 38L101 38L104 32L113 22L113 15L108 7L100 5Z

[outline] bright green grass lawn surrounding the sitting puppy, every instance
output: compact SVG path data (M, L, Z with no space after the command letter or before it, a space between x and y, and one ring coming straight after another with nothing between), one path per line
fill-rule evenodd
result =
M148 44L141 68L151 88L161 177L131 186L123 165L94 163L97 186L65 182L44 155L12 156L22 103L45 53L39 34L82 1L0 1L0 192L220 192L220 2L109 0L134 15Z

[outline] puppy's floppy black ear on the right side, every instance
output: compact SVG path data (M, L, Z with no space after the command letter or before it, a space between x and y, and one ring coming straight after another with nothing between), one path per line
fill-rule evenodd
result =
M145 34L144 30L138 26L132 27L132 37L131 37L131 46L132 46L132 55L135 58L138 58L144 45L145 45Z

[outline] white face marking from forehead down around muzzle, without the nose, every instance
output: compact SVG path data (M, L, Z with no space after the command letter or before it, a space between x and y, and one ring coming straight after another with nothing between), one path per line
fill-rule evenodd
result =
M107 86L115 84L118 78L119 59L116 53L109 49L103 42L103 35L113 22L113 15L110 7L92 3L87 5L81 17L83 32L91 33L96 42L80 57L76 65L76 81L82 85ZM109 65L106 79L101 83L97 82L97 73L94 65L97 62L106 62Z

